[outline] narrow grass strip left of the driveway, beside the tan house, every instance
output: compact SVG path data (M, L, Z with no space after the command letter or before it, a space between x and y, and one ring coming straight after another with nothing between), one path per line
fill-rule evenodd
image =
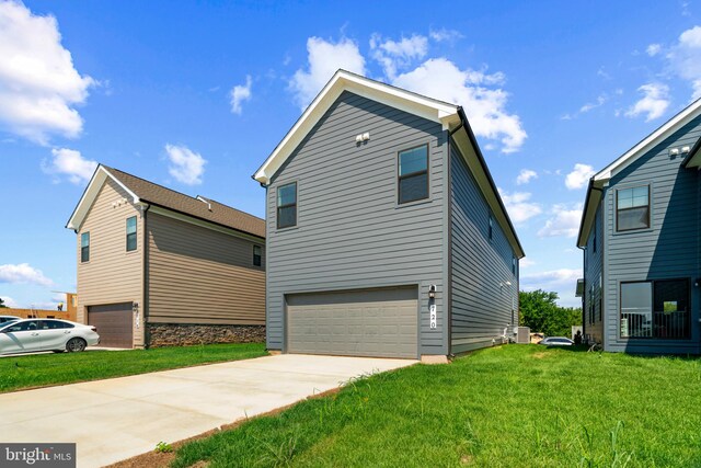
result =
M0 358L0 392L264 356L264 343L87 351Z

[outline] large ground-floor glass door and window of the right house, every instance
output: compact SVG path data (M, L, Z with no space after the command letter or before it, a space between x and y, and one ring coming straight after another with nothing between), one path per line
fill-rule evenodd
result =
M688 339L689 281L621 283L621 338Z

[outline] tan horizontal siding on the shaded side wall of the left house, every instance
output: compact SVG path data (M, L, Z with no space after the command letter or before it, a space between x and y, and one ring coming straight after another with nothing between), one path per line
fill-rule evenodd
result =
M264 324L265 258L250 240L147 214L148 322Z

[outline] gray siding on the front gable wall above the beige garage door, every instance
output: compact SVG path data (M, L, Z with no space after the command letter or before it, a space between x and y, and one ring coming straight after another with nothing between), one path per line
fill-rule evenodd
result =
M355 136L370 133L356 144ZM429 146L429 198L398 206L398 151ZM285 350L285 297L418 285L418 354L447 354L444 282L446 133L439 124L344 92L266 194L267 347ZM297 182L297 226L276 227L277 187ZM437 286L437 329L428 287Z

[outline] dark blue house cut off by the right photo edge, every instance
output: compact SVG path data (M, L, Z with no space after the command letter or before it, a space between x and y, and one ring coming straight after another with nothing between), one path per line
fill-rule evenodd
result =
M701 100L589 181L584 334L606 351L701 353Z

